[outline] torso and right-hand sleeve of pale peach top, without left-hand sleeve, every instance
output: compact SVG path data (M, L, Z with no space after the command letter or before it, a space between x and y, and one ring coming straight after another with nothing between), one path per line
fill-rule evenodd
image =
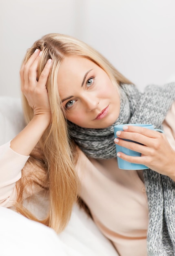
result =
M164 132L175 150L175 103L164 121ZM145 186L135 170L120 170L117 159L77 163L81 197L96 225L121 256L146 256L148 205Z

